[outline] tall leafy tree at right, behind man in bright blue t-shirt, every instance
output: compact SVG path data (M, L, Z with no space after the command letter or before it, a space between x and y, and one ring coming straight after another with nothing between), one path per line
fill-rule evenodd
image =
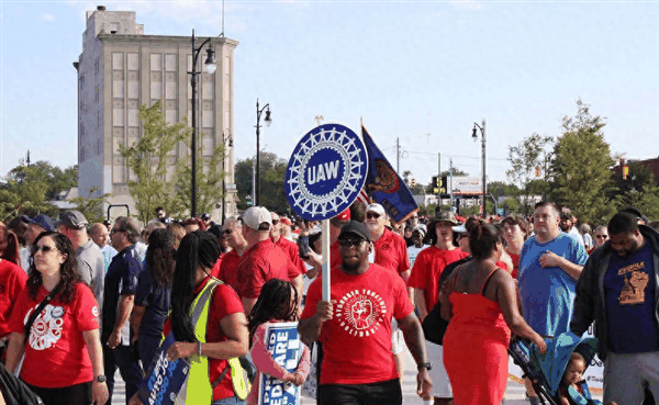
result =
M602 128L604 119L577 100L577 115L565 116L562 134L554 145L550 193L558 204L570 207L580 222L597 222L612 214L606 199L612 187L613 159Z

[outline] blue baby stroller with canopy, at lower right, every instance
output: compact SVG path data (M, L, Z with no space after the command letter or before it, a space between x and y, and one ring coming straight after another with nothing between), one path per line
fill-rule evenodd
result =
M572 352L583 356L585 365L592 361L597 352L597 339L580 338L571 331L561 334L556 338L547 339L547 353L541 356L536 348L532 348L528 340L517 337L511 340L509 353L515 364L524 371L532 381L533 389L538 394L541 404L558 405L559 385ZM585 381L580 383L582 393L568 389L568 395L574 404L601 405L593 400Z

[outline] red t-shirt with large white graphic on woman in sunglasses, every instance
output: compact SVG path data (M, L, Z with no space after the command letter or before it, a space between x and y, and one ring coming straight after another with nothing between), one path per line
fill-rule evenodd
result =
M21 292L9 323L11 331L25 333L27 318L46 295L43 286L36 300L30 299L27 289ZM21 379L43 389L92 381L93 370L82 331L100 328L99 314L93 293L83 283L76 284L76 297L68 304L53 299L32 324Z

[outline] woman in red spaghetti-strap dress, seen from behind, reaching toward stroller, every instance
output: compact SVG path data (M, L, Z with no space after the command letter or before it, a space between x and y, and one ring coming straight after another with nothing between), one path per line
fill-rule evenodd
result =
M456 269L442 290L442 316L450 320L444 336L444 365L455 405L499 405L507 379L511 330L547 351L543 338L520 314L513 278L496 266L502 233L478 222L469 233L474 260Z

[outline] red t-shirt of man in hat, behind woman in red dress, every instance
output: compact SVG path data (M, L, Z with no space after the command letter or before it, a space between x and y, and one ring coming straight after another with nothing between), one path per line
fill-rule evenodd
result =
M469 254L460 250L460 248L443 250L435 245L418 252L410 273L410 280L407 280L407 286L423 290L427 311L431 311L439 300L438 283L444 268L467 256Z

